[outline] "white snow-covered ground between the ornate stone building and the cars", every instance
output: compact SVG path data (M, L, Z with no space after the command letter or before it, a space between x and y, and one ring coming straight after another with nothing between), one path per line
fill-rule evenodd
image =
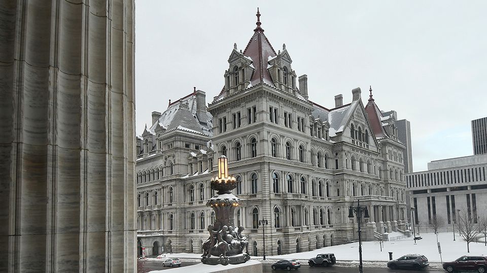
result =
M416 241L414 244L414 240L412 237L405 238L398 241L388 241L384 242L384 246L382 247L382 252L380 252L379 243L376 241L369 241L362 243L362 257L364 261L368 261L365 264L369 266L379 266L382 267L385 265L385 262L389 260L389 253L393 252L393 258L399 258L405 254L423 254L425 255L432 265L436 263L435 267L440 267L440 254L438 254L438 245L436 243L436 235L429 233L429 234L421 234L423 237L422 240ZM462 255L487 255L487 246L484 246L483 238L479 238L479 243L470 243L470 253L467 253L467 243L463 241L463 239L458 235L455 236L456 241L453 241L453 233L439 233L438 234L438 241L441 245L441 255L443 261L451 261L455 260ZM480 242L482 240L482 242ZM267 262L274 262L276 259L284 259L284 258L292 258L296 259L300 262L306 262L307 259L311 257L316 257L317 254L320 253L334 253L337 259L337 265L353 265L359 259L358 253L359 243L350 243L344 245L337 245L337 246L330 246L324 247L320 249L316 249L313 251L307 252L300 252L300 253L293 253L293 254L284 254L284 255L277 255L277 256L266 256L269 261ZM166 257L178 257L178 258L187 258L187 259L200 259L201 254L194 254L194 253L173 253L173 254L166 254ZM252 256L252 259L259 259L261 260L262 257L255 257ZM342 263L340 261L346 261L346 263Z

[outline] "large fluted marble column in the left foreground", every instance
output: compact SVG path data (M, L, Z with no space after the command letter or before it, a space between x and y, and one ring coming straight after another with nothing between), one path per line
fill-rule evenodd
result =
M133 0L0 2L0 271L136 269Z

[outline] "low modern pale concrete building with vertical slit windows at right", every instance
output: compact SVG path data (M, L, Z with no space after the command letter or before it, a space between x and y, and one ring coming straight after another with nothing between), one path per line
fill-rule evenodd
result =
M422 232L434 217L444 221L443 231L451 231L457 210L467 211L475 221L487 217L487 155L437 160L428 170L406 174L415 222Z

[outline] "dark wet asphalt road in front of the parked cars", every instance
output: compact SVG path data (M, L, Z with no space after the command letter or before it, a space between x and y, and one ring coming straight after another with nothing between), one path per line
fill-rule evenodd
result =
M292 270L295 271L295 270ZM331 266L331 267L309 267L308 265L301 265L301 268L299 268L296 273L307 273L307 272L315 272L315 273L357 273L359 271L358 267L336 267L336 266ZM264 272L273 272L273 273L284 273L287 272L286 270L283 269L277 269L275 271L272 271L272 268L270 268L270 264L264 264ZM420 271L415 271L415 270L391 270L389 268L366 268L364 267L364 273L416 273L416 272L421 272L421 273L437 273L437 272L445 272L445 270L420 270Z

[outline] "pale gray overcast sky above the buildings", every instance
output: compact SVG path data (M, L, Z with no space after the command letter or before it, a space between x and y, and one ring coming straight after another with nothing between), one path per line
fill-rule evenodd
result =
M286 43L308 75L311 101L333 108L359 86L366 104L372 85L381 110L411 122L414 171L473 154L470 120L487 116L487 1L136 0L137 134L193 86L212 102L257 7L273 48Z

